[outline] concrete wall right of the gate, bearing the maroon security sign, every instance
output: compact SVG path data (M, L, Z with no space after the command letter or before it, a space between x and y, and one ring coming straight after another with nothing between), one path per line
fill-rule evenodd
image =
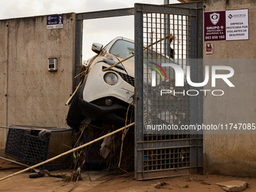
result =
M207 0L203 11L223 11L248 8L249 40L212 41L213 54L204 59L255 59L256 58L256 1L253 0ZM216 63L204 62L206 66ZM218 65L218 64L217 64ZM224 96L204 97L204 123L256 123L256 65L254 63L219 63L231 66L235 75L230 81L235 88L218 84ZM205 87L211 90L212 87ZM204 135L204 172L224 175L256 175L256 135Z

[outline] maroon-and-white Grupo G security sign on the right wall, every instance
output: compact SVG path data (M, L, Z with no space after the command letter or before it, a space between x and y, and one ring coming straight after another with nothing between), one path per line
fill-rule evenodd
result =
M248 40L248 9L203 13L204 41Z

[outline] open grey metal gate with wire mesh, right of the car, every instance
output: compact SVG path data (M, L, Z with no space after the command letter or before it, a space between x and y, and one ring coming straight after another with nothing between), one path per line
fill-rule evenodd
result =
M202 171L203 136L181 126L203 123L203 97L185 95L191 90L186 80L184 87L175 87L173 69L185 74L191 66L191 81L202 82L202 7L135 5L138 180Z

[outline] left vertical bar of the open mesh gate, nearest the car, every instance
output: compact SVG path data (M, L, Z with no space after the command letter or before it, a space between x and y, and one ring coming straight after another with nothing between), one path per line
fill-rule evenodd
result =
M135 177L137 172L143 170L143 151L138 151L137 142L143 140L143 16L142 5L134 5L135 24Z

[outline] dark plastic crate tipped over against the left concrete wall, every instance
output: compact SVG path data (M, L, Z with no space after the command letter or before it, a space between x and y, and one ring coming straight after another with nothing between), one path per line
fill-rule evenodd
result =
M61 154L65 151L56 151L54 154L54 150L57 147L56 141L59 139L59 136L62 132L69 131L72 136L72 128L70 127L46 127L46 126L10 126L12 129L8 130L8 136L5 145L5 154L11 155L13 157L17 157L18 160L22 160L26 163L36 164L41 163L47 158L54 157L58 154ZM29 128L31 130L20 130L15 129L15 127L19 128ZM50 130L51 135L44 141L41 141L38 138L38 133L41 130ZM66 133L65 133L66 134ZM62 139L66 140L66 139ZM69 142L69 141L64 141ZM70 139L70 144L71 144ZM50 145L52 143L52 145ZM60 145L60 144L59 144ZM63 144L64 145L64 144ZM50 150L50 148L53 148ZM68 148L68 147L67 147ZM50 157L48 151L50 150ZM66 150L67 151L67 150ZM68 160L66 158L62 160L55 160L53 162L47 163L44 166L41 166L41 169L47 169L49 171L56 169L64 169L68 166Z

